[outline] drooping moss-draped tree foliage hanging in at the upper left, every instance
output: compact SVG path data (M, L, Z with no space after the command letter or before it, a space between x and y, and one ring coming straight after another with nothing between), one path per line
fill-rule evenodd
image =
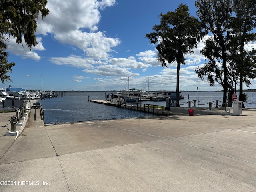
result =
M0 40L1 50L6 49L3 46L3 40L8 40L8 35L16 37L16 43L22 44L22 36L24 41L31 49L36 46L36 20L38 15L41 14L42 18L49 14L49 10L46 8L47 0L1 0L0 3ZM6 57L5 63L2 63L0 68L0 78L4 80L10 80L9 76L6 76L7 72L11 72L14 63L11 63L8 67L7 56L8 54L1 53L1 56ZM7 67L7 68L4 68Z

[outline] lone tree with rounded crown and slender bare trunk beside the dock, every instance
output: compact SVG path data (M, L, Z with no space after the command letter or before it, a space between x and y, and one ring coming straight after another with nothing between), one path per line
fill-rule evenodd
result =
M185 55L193 53L193 48L203 34L198 18L190 16L188 11L188 6L180 4L174 12L161 13L160 24L153 27L153 32L146 34L146 38L149 38L152 44L156 44L158 60L162 66L167 67L166 61L177 62L176 106L180 106L180 65L185 64Z

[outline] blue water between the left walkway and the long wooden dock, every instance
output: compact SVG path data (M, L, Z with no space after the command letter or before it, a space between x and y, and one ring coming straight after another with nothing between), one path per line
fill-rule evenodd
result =
M110 93L108 93L110 94ZM65 96L39 100L44 108L44 123L66 123L152 116L153 114L117 108L88 101L104 100L105 93L65 93Z

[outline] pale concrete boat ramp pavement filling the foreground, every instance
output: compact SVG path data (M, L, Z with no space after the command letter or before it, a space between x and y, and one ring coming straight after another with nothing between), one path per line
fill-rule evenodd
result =
M256 191L255 109L53 125L33 116L6 150L0 137L1 192Z

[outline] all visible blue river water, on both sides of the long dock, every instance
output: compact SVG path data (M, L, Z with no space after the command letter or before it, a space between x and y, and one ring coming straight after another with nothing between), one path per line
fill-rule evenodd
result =
M212 107L215 107L214 104L216 104L216 100L220 101L219 105L222 104L222 92L183 92L182 94L184 95L184 99L180 100L181 107L188 107L188 101L193 100L196 100L196 106L200 107L208 107L208 102L212 102ZM256 93L248 92L246 94L249 98L248 101L244 103L245 107L256 108ZM63 97L39 100L44 108L44 123L54 124L92 120L134 118L153 115L145 112L89 102L88 96L90 96L90 100L105 99L105 93L92 92L65 93L65 96ZM200 105L198 105L198 100ZM141 103L145 103L145 101ZM149 104L165 106L166 102L149 101Z

